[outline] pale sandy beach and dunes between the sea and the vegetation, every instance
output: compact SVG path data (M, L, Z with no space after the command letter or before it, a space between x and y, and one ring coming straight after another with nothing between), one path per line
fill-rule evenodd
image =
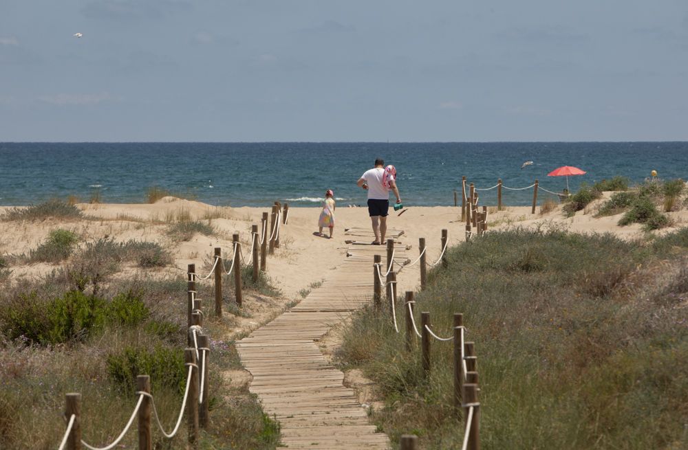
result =
M609 194L609 193L608 193ZM608 195L605 195L605 198ZM641 225L619 227L619 216L594 218L596 201L571 218L561 214L561 206L541 214L540 207L531 214L530 207L505 207L497 212L496 207L488 207L488 226L499 229L508 226L556 226L571 232L612 232L623 238L632 239L642 234ZM115 240L144 240L160 243L173 253L172 267L147 269L160 275L181 273L186 266L195 263L197 272L210 270L213 249L221 247L227 255L232 249L232 234L238 233L248 257L250 249L250 229L259 225L266 208L259 207L215 207L197 201L164 197L153 204L78 204L87 218L69 221L47 219L41 222L1 222L0 254L28 254L35 249L52 229L63 228L76 232L83 241L98 238ZM9 207L0 207L0 214ZM348 228L369 229L370 221L365 207L338 205L334 238L316 236L319 208L292 207L289 210L288 224L280 229L280 248L268 257L267 273L286 300L299 297L299 291L308 289L312 283L321 281L328 271L336 270L347 257L344 231ZM405 212L391 214L388 227L402 229L407 242L413 243L411 254L418 251L418 238L426 238L429 262L440 256L440 236L442 229L448 230L449 245L460 243L465 238L464 223L460 221L460 207L407 207ZM671 212L674 227L685 222L687 212ZM170 223L178 220L203 221L215 229L213 236L196 234L188 241L177 242L167 236ZM666 232L671 228L662 230ZM327 230L324 230L327 234ZM347 237L350 238L350 237ZM367 244L362 243L363 245ZM355 248L355 247L354 247ZM380 246L380 254L385 255L385 247ZM47 263L34 263L12 267L12 279L32 278L50 273L55 268ZM139 269L141 270L141 269ZM131 275L133 269L122 272ZM150 273L149 273L150 274ZM403 290L414 290L420 282L418 271L407 270L399 274Z

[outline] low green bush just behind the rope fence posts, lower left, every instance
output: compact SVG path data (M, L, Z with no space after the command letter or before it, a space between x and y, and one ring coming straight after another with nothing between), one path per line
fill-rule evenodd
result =
M149 375L153 392L167 387L184 393L186 366L182 348L156 346L153 350L127 346L106 359L110 379L127 394L136 391L136 376Z

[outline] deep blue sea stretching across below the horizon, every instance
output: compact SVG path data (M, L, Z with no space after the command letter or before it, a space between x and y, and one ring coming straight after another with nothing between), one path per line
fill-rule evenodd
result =
M569 177L572 192L621 175L640 183L686 179L688 142L491 143L0 143L0 205L29 205L54 197L103 203L143 203L152 186L213 205L266 206L274 201L319 206L334 190L338 205L365 204L356 180L374 159L394 164L403 203L453 205L465 175L477 188L541 188L560 192L559 166L588 173ZM521 168L524 161L533 164ZM496 203L496 190L480 193ZM546 192L539 193L545 199ZM528 205L533 190L504 190L507 205Z

